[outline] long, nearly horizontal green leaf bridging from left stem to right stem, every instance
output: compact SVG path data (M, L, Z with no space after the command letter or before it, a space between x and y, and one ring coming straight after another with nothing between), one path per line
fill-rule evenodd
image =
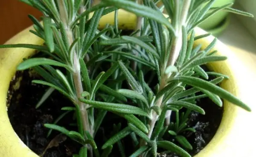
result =
M86 104L92 105L95 108L105 109L111 112L148 116L147 112L145 112L143 109L140 109L138 107L134 107L131 105L107 103L107 102L100 102L100 101L90 101L86 99L80 99L80 101Z

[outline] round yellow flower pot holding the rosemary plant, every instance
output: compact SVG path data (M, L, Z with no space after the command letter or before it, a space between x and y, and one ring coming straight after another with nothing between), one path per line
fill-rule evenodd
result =
M113 23L113 14L114 13L105 15L102 18L100 25ZM122 17L130 20L124 20ZM130 22L128 26L126 24L127 21ZM135 21L135 15L125 11L120 12L120 26L126 25L127 27L135 28ZM27 43L42 45L44 41L31 34L29 29L32 29L32 27L20 32L6 42L6 44ZM200 28L196 28L195 32L196 35L206 33ZM213 36L208 36L207 38L196 40L195 46L202 44L202 48L206 48L213 39ZM247 89L247 87L249 87L248 85L251 83L250 80L253 80L253 78L250 77L250 80L248 80L247 76L249 75L246 70L243 70L246 69L246 67L243 67L243 64L239 62L237 56L223 43L218 41L213 50L218 50L217 55L227 56L228 60L224 62L209 63L207 66L210 70L229 76L230 79L223 81L221 87L241 98L241 100L248 104L253 111L246 112L245 110L224 101L224 115L219 129L210 143L200 151L196 157L254 157L254 147L250 144L250 138L254 134L254 129L252 127L253 122L251 121L256 119L256 116L254 115L256 108L254 107L254 95ZM23 58L31 56L34 53L35 50L27 48L0 49L0 157L38 157L38 155L33 153L20 140L12 129L6 107L6 96L9 83L15 75L17 65L22 62Z

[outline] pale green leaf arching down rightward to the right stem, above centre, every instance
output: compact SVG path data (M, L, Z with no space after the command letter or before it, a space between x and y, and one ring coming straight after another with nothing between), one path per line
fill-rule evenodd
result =
M122 39L125 39L129 41L130 43L133 43L135 45L139 45L141 48L145 48L149 53L151 53L153 56L157 57L157 59L160 59L159 54L157 53L154 48L151 48L151 46L147 45L145 42L141 41L140 39L137 39L133 36L122 36Z

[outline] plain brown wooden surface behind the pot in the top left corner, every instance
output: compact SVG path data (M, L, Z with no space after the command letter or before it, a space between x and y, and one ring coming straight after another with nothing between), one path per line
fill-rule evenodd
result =
M0 0L0 44L32 25L28 14L36 18L41 17L39 11L19 0Z

